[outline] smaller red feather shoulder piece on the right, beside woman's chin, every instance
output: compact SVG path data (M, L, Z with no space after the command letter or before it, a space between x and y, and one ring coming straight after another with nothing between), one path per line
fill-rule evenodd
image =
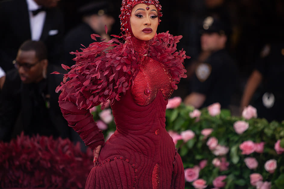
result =
M180 78L187 77L183 62L184 59L190 58L183 49L179 51L176 49L176 44L182 37L182 35L173 36L169 31L159 33L155 35L149 48L149 56L167 66L175 83L179 83Z

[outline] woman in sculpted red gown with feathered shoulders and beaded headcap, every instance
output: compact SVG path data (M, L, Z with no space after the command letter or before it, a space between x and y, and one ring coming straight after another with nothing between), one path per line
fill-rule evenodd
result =
M186 55L176 51L181 36L156 34L161 16L158 0L123 0L125 43L114 38L77 51L76 64L57 88L69 126L94 151L86 188L184 188L183 163L165 130L165 111L176 83L186 77ZM104 108L107 100L117 130L105 142L89 108L101 103Z

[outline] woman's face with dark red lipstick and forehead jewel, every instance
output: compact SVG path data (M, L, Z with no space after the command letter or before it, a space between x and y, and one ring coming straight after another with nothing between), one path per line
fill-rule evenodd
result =
M138 4L132 9L130 25L133 35L144 41L152 39L158 27L158 11L154 5Z

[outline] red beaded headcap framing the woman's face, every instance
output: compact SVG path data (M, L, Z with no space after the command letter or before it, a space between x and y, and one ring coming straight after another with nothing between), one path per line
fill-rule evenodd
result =
M158 10L159 23L161 22L160 18L163 15L161 12L162 6L159 4L158 0L122 0L122 7L120 8L121 14L119 15L121 31L125 31L126 33L129 30L131 31L130 14L132 8L140 3L154 5Z

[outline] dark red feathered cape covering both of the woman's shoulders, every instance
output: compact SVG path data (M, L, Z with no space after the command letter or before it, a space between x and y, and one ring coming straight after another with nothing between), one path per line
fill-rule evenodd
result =
M99 36L92 34L91 37L95 40ZM94 42L81 52L73 52L76 55L76 64L64 75L56 92L74 87L76 93L67 94L63 100L69 101L70 95L74 95L80 109L88 109L101 103L103 109L108 99L114 103L131 88L132 81L139 72L141 55L134 51L131 43L121 43L117 38ZM186 78L183 62L189 58L184 50L176 51L176 43L181 38L181 35L173 36L168 31L156 34L148 51L148 56L166 65L175 83L180 78ZM131 41L131 37L126 38L127 40ZM112 47L114 48L111 49ZM65 65L62 67L69 68Z

